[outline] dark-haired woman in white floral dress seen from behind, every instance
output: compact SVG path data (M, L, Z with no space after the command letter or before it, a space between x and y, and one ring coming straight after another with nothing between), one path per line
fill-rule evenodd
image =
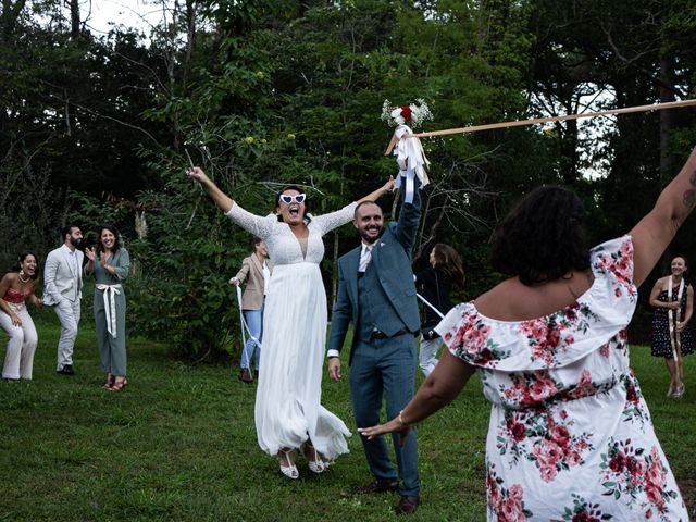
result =
M388 423L408 436L478 372L493 403L489 521L687 521L629 366L625 327L639 286L696 201L696 149L629 235L587 251L582 208L562 188L527 196L498 233L493 264L511 278L452 309L448 350Z

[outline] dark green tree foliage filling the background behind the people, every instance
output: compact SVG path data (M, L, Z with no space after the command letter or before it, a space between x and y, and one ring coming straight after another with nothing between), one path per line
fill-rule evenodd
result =
M226 281L249 237L186 179L190 163L252 212L272 211L291 183L321 213L396 173L385 99L423 98L435 116L423 130L684 99L696 79L692 3L187 0L142 40L124 27L96 38L59 0L4 0L0 257L16 253L13 237L48 248L67 217L113 221L137 268L129 324L219 358L236 321ZM672 111L424 139L417 264L451 244L469 274L460 297L474 297L499 278L486 262L493 227L540 183L579 191L595 240L625 232L695 128L693 111ZM694 258L695 241L685 232L675 248ZM356 243L350 227L326 238L330 301L334 261Z

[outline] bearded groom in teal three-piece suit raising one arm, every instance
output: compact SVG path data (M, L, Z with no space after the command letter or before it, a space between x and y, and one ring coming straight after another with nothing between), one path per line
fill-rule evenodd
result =
M406 185L406 184L402 184ZM403 189L402 189L403 192ZM403 195L403 194L402 194ZM339 352L348 323L352 321L350 347L350 396L358 427L380 423L383 396L387 419L399 412L413 397L420 328L415 286L411 271L411 250L421 219L421 195L403 203L398 223L383 231L382 209L366 201L356 208L353 225L362 243L338 260L338 297L334 306L328 336L328 374L340 380ZM415 433L399 445L393 434L398 476L389 460L384 438L361 437L374 481L357 493L399 490L397 514L418 509L418 443Z

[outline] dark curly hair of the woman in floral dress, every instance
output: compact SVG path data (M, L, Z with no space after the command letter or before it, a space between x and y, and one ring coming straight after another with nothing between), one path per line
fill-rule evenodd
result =
M525 285L587 270L589 249L580 198L556 186L530 192L498 227L490 263Z

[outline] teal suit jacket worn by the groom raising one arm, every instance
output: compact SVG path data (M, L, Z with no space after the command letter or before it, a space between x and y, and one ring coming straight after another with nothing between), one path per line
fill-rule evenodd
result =
M403 328L415 334L421 327L411 270L411 253L421 219L421 191L415 189L414 192L412 203L401 204L398 222L388 223L380 239L375 241L370 261L369 270L376 272L378 284L384 290L376 294L384 302L375 309L385 312L386 307L391 308L390 313L372 316L372 320L388 337ZM358 296L360 250L359 246L338 259L338 296L332 315L330 350L340 351L350 322L353 326L352 346L359 341L360 328L363 326ZM352 362L352 350L350 362Z

